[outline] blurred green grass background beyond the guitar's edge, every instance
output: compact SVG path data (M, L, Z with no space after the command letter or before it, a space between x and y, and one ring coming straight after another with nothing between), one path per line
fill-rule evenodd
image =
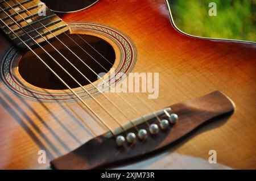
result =
M168 0L176 26L190 35L256 41L256 0ZM217 16L209 16L210 2Z

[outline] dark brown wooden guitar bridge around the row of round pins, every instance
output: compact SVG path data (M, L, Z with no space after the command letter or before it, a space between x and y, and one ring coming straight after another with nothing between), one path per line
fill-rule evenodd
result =
M126 143L118 147L115 144L115 138L110 139L101 135L86 142L71 153L54 159L51 165L54 169L94 169L129 158L136 159L172 144L209 120L214 120L214 118L225 116L234 111L232 101L220 91L170 107L172 108L170 113L179 115L179 121L156 135L149 135L146 140L137 140L133 144ZM160 119L168 119L165 114L159 117ZM152 124L157 123L158 120L155 118L148 122ZM148 129L147 124L139 125L138 129ZM134 128L131 128L127 130L127 133L135 131Z

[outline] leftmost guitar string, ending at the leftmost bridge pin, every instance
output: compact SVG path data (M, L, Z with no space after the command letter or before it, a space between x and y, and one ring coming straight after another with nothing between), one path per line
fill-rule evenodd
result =
M2 7L0 6L0 9L3 11L3 12L5 12L3 9L2 9ZM9 16L6 12L5 12L5 14L7 15L7 16ZM11 17L10 17L11 18ZM12 19L12 18L11 18ZM28 49L30 49L31 50L31 52L33 53L33 54L35 54L35 56L36 57L38 57L39 58L39 60L40 61L42 61L42 63L47 67L47 69L49 69L81 102L82 102L82 104L84 104L84 106L86 106L87 108L88 108L88 110L90 111L90 112L92 112L93 113L93 115L98 119L98 120L100 120L100 122L105 126L105 128L107 128L114 136L115 136L115 133L112 131L112 129L109 127L109 125L108 124L106 124L105 123L105 121L104 120L102 120L101 118L100 118L100 116L98 116L98 114L96 113L96 112L94 112L89 106L88 106L88 104L86 104L85 102L84 102L84 100L82 100L81 98L80 98L80 96L79 95L77 95L76 94L76 92L75 91L73 91L73 89L71 89L71 87L69 87L68 86L68 84L65 82L65 81L63 81L63 79L61 79L60 77L59 77L59 75L57 75L56 73L55 73L55 71L53 71L50 67L49 67L49 65L48 64L46 64L46 62L44 62L43 60L42 60L42 58L40 58L39 56L38 56L38 54L36 54L35 52L34 52L34 50L32 50L31 48L30 48L30 46L29 45L27 45L9 26L7 26L7 24L0 18L0 20L1 20L1 22L3 23L3 24L5 24L5 26L7 27L7 28L9 28L9 30L11 31L11 32L13 32L13 34L16 36L16 37L18 37L18 39L20 40L20 41L22 41L22 43L24 44L24 45L26 45L26 47L28 48ZM12 19L13 20L13 19ZM14 21L14 20L13 20ZM14 21L15 22L15 21ZM32 40L34 40L34 39L32 39ZM40 45L39 45L40 46ZM84 107L82 107L83 109L84 109ZM85 110L85 109L84 109ZM85 110L86 111L86 110ZM86 111L87 112L87 111ZM93 117L93 116L92 116ZM84 122L83 122L84 123Z

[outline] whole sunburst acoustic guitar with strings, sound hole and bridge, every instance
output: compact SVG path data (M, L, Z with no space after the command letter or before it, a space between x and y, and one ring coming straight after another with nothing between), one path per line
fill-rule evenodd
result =
M0 1L1 169L256 169L255 43L164 0L45 2Z

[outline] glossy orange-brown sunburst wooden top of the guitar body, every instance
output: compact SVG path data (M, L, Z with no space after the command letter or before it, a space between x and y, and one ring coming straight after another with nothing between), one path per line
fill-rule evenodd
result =
M165 150L190 157L209 158L209 150L217 151L217 163L233 169L256 169L256 45L254 43L201 39L184 35L172 26L170 11L164 0L110 1L101 0L88 9L63 14L64 22L100 23L127 35L134 43L134 68L131 72L159 73L159 97L148 99L137 93L142 102L131 93L120 93L135 109L145 115L171 104L193 99L220 90L236 104L233 115L197 129L191 136ZM113 67L121 55L118 47L100 33L71 28L71 33L89 34L106 40L116 53ZM0 54L13 46L0 34ZM22 60L21 60L22 61ZM37 61L37 60L35 60ZM2 64L2 63L1 63ZM2 68L1 68L2 69ZM12 69L19 81L33 90L46 91L24 81L17 68ZM2 71L2 70L1 70ZM97 83L97 81L96 81ZM85 86L85 87L89 87ZM10 91L4 81L0 83L0 167L1 169L47 169L52 159L60 157L84 144L94 134L84 124L100 135L107 130L99 127L84 113L75 101L44 101L31 99ZM61 93L64 90L55 90ZM130 108L111 93L106 93L130 119L138 117ZM96 98L106 107L111 104L102 95ZM94 111L104 114L92 99L87 98ZM110 108L114 115L117 110ZM117 127L111 117L103 115L108 123ZM125 123L125 121L123 121ZM39 150L45 150L47 163L38 162ZM164 159L161 164L167 164ZM157 164L148 168L158 169Z

